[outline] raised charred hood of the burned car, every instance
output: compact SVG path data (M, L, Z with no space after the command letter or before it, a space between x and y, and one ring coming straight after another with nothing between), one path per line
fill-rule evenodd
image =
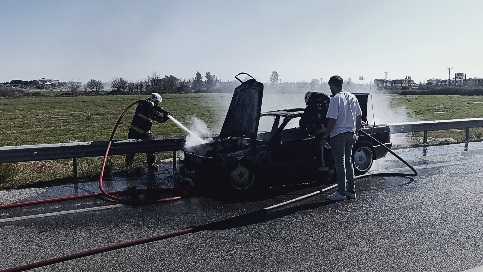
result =
M235 78L238 79L236 76ZM240 79L238 80L241 82ZM230 136L243 135L255 142L262 108L262 97L262 83L256 81L253 77L245 82L241 82L241 85L233 93L227 117L225 117L218 138L225 139Z

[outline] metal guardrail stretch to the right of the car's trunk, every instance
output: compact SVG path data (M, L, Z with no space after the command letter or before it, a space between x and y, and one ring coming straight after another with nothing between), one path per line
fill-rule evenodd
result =
M388 124L391 133L424 132L423 143L427 144L427 132L435 130L465 129L465 141L469 140L469 129L483 127L483 118L417 121Z

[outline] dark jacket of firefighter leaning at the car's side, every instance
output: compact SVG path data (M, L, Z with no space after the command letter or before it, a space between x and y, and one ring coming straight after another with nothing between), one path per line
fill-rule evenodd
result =
M303 136L323 136L329 121L327 118L329 103L330 97L327 94L316 92L311 95L299 121Z

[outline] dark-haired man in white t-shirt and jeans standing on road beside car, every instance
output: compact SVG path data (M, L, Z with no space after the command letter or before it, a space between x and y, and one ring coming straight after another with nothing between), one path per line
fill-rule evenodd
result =
M355 95L344 91L342 83L340 76L332 76L328 81L333 96L327 110L327 131L320 142L322 148L330 138L337 171L337 192L327 196L330 200L355 198L355 175L351 158L352 147L357 141L357 133L361 126L362 111Z

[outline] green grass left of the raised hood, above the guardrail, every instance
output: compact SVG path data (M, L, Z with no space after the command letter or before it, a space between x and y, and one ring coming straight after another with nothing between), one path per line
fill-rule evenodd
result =
M0 146L108 140L119 116L131 103L146 98L129 96L79 96L2 99ZM219 130L231 95L164 95L162 106L178 121L189 124L192 116L210 129ZM114 139L127 139L135 106L129 110ZM90 120L86 115L91 115ZM185 136L173 124L153 125L156 137Z

